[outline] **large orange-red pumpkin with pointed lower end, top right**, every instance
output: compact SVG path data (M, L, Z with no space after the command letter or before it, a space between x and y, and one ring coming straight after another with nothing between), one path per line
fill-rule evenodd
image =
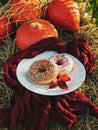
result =
M80 30L80 12L73 0L53 0L48 4L46 17L56 27L71 32Z

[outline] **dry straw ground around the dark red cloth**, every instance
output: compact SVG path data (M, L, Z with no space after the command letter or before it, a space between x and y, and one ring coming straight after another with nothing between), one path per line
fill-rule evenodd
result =
M5 7L7 8L8 5ZM88 19L83 19L84 4L79 3L81 12L81 31L75 34L69 34L59 31L59 37L64 43L76 35L83 35L87 37L92 51L96 55L96 66L93 73L86 76L85 82L80 86L79 91L83 92L92 102L98 105L98 28L92 25ZM4 9L3 8L3 11ZM83 9L84 8L84 9ZM5 12L5 15L7 13ZM0 46L0 107L10 107L10 97L12 91L7 87L3 79L3 65L8 57L17 52L15 45L15 38L11 39L9 36L5 40L5 44ZM24 130L24 125L20 124L16 130ZM7 130L6 128L0 130ZM66 130L56 122L50 121L47 130ZM98 130L98 119L89 116L89 111L78 115L78 122L74 124L72 130Z

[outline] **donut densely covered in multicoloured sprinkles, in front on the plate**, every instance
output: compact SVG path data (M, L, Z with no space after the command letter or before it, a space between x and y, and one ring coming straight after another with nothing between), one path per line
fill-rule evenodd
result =
M58 67L49 59L36 60L28 72L33 82L37 84L48 84L58 75Z

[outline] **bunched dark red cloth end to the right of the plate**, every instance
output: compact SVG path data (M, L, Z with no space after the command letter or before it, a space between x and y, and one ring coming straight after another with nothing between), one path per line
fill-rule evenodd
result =
M91 51L85 37L77 36L74 40L69 42L66 50L83 63L87 73L91 73L93 71L93 67L96 64L96 57Z

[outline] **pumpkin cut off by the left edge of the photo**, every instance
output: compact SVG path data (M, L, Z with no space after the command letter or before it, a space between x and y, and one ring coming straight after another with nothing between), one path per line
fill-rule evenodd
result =
M8 19L0 14L0 45L4 43L4 39L13 31L12 24Z

